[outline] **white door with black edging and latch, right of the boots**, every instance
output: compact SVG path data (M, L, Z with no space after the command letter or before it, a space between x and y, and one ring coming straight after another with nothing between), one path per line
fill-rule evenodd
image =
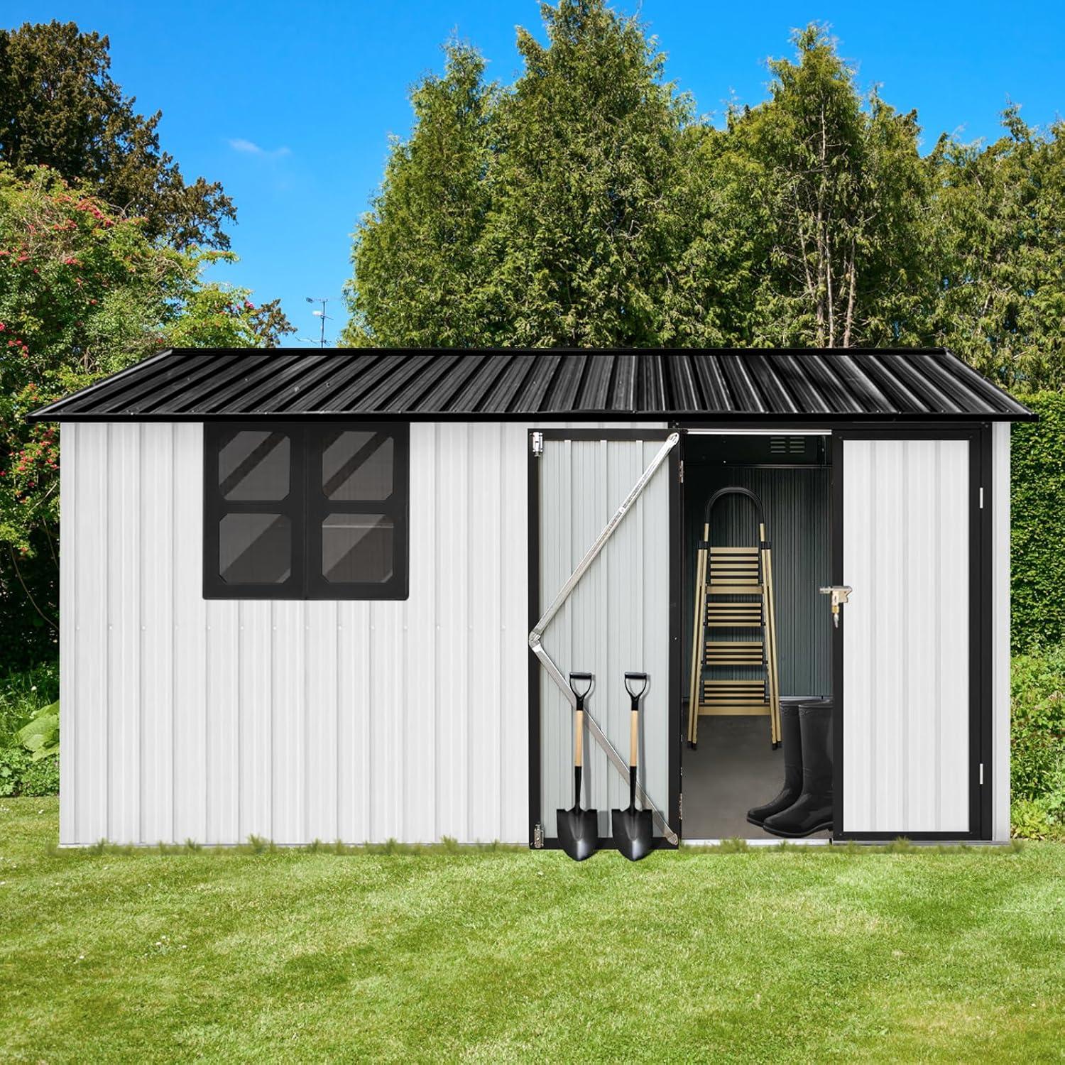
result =
M837 433L837 838L980 835L979 443Z

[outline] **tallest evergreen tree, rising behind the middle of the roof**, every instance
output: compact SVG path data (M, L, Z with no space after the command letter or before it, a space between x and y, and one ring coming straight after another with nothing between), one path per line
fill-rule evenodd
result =
M493 328L519 346L660 344L688 224L690 103L637 19L602 0L541 14L547 46L519 31L525 69L501 106Z

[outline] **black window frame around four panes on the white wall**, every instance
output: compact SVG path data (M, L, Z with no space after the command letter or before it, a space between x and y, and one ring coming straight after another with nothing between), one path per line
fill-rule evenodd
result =
M218 485L218 454L236 432L268 429L289 438L289 494L283 499L227 499ZM386 432L393 441L392 493L387 499L330 499L322 455L335 433ZM230 513L284 514L292 527L292 567L278 584L228 584L219 569L218 525ZM330 513L382 513L392 519L392 576L384 581L332 583L322 573L322 523ZM406 600L410 595L409 422L204 422L203 599Z

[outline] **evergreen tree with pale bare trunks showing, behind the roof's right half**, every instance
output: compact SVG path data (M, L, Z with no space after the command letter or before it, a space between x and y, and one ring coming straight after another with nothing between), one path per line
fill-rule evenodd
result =
M752 186L730 217L761 245L750 339L918 343L928 249L916 114L875 93L863 100L822 28L794 39L797 62L770 61L770 99L731 116L723 160Z

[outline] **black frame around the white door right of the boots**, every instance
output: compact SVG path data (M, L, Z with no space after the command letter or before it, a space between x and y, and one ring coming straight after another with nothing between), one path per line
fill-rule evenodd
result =
M832 638L833 839L989 839L992 836L992 430L972 425L847 426L832 433L832 583L842 585L843 443L847 440L966 440L969 443L969 830L968 832L843 831L843 634L847 607ZM983 771L981 772L981 766Z

